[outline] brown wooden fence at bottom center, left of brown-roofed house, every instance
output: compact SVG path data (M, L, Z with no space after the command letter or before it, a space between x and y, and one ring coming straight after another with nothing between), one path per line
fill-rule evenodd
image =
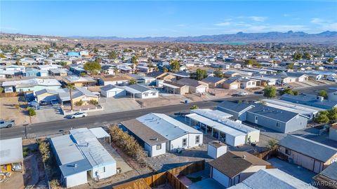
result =
M164 185L169 183L173 188L176 189L187 189L187 187L180 182L177 178L178 175L187 175L192 174L194 172L199 172L205 169L205 160L201 160L198 162L193 162L188 165L184 165L181 167L176 167L173 169L169 169L166 172L161 172L158 174L153 174L151 176L147 176L142 180L145 181L147 186L156 187L160 185ZM133 188L139 188L138 184L140 184L139 179L135 181L130 181L128 183L122 183L118 186L113 186L114 189L127 189L129 186L133 186Z

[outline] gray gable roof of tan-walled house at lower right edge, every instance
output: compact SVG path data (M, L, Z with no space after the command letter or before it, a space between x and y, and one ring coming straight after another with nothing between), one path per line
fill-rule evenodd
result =
M333 155L337 154L337 148L320 144L317 141L305 139L296 135L287 135L278 142L279 146L289 148L292 151L302 153L310 158L326 162Z

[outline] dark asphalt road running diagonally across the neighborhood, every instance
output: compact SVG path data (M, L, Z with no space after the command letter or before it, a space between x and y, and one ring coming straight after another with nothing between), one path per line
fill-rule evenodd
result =
M337 85L319 85L316 87L305 87L296 89L300 92L305 93L317 93L319 90L324 90L328 87L337 87ZM203 102L192 102L189 104L176 104L170 106L160 106L148 109L138 109L133 111L123 111L117 113L107 113L101 114L97 116L88 116L86 118L77 118L74 120L56 120L46 123L36 123L32 125L27 125L26 127L17 126L12 128L5 128L0 130L0 139L11 139L14 137L22 137L22 138L34 138L41 137L51 134L58 134L63 131L68 131L71 128L80 128L80 127L100 127L104 125L109 125L112 123L119 123L123 120L130 120L133 118L137 118L139 116L143 116L147 113L176 113L180 111L188 111L191 106L197 105L201 109L206 108L214 108L217 106L218 102L222 102L223 100L257 100L262 99L262 94L253 94L247 97L230 97L225 99L216 99L211 101L203 101ZM26 132L27 130L27 132Z

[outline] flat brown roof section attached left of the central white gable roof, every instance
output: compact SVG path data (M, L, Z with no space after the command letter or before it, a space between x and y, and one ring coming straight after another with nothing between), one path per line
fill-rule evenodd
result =
M147 127L136 119L123 121L121 124L150 146L168 141L168 139L161 136L161 134L155 132L150 127Z

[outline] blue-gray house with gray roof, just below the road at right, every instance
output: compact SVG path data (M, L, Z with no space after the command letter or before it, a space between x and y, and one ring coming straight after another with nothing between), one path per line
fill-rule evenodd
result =
M218 110L230 113L238 120L282 133L301 130L308 123L308 117L300 113L285 111L263 104L224 101L218 105Z

